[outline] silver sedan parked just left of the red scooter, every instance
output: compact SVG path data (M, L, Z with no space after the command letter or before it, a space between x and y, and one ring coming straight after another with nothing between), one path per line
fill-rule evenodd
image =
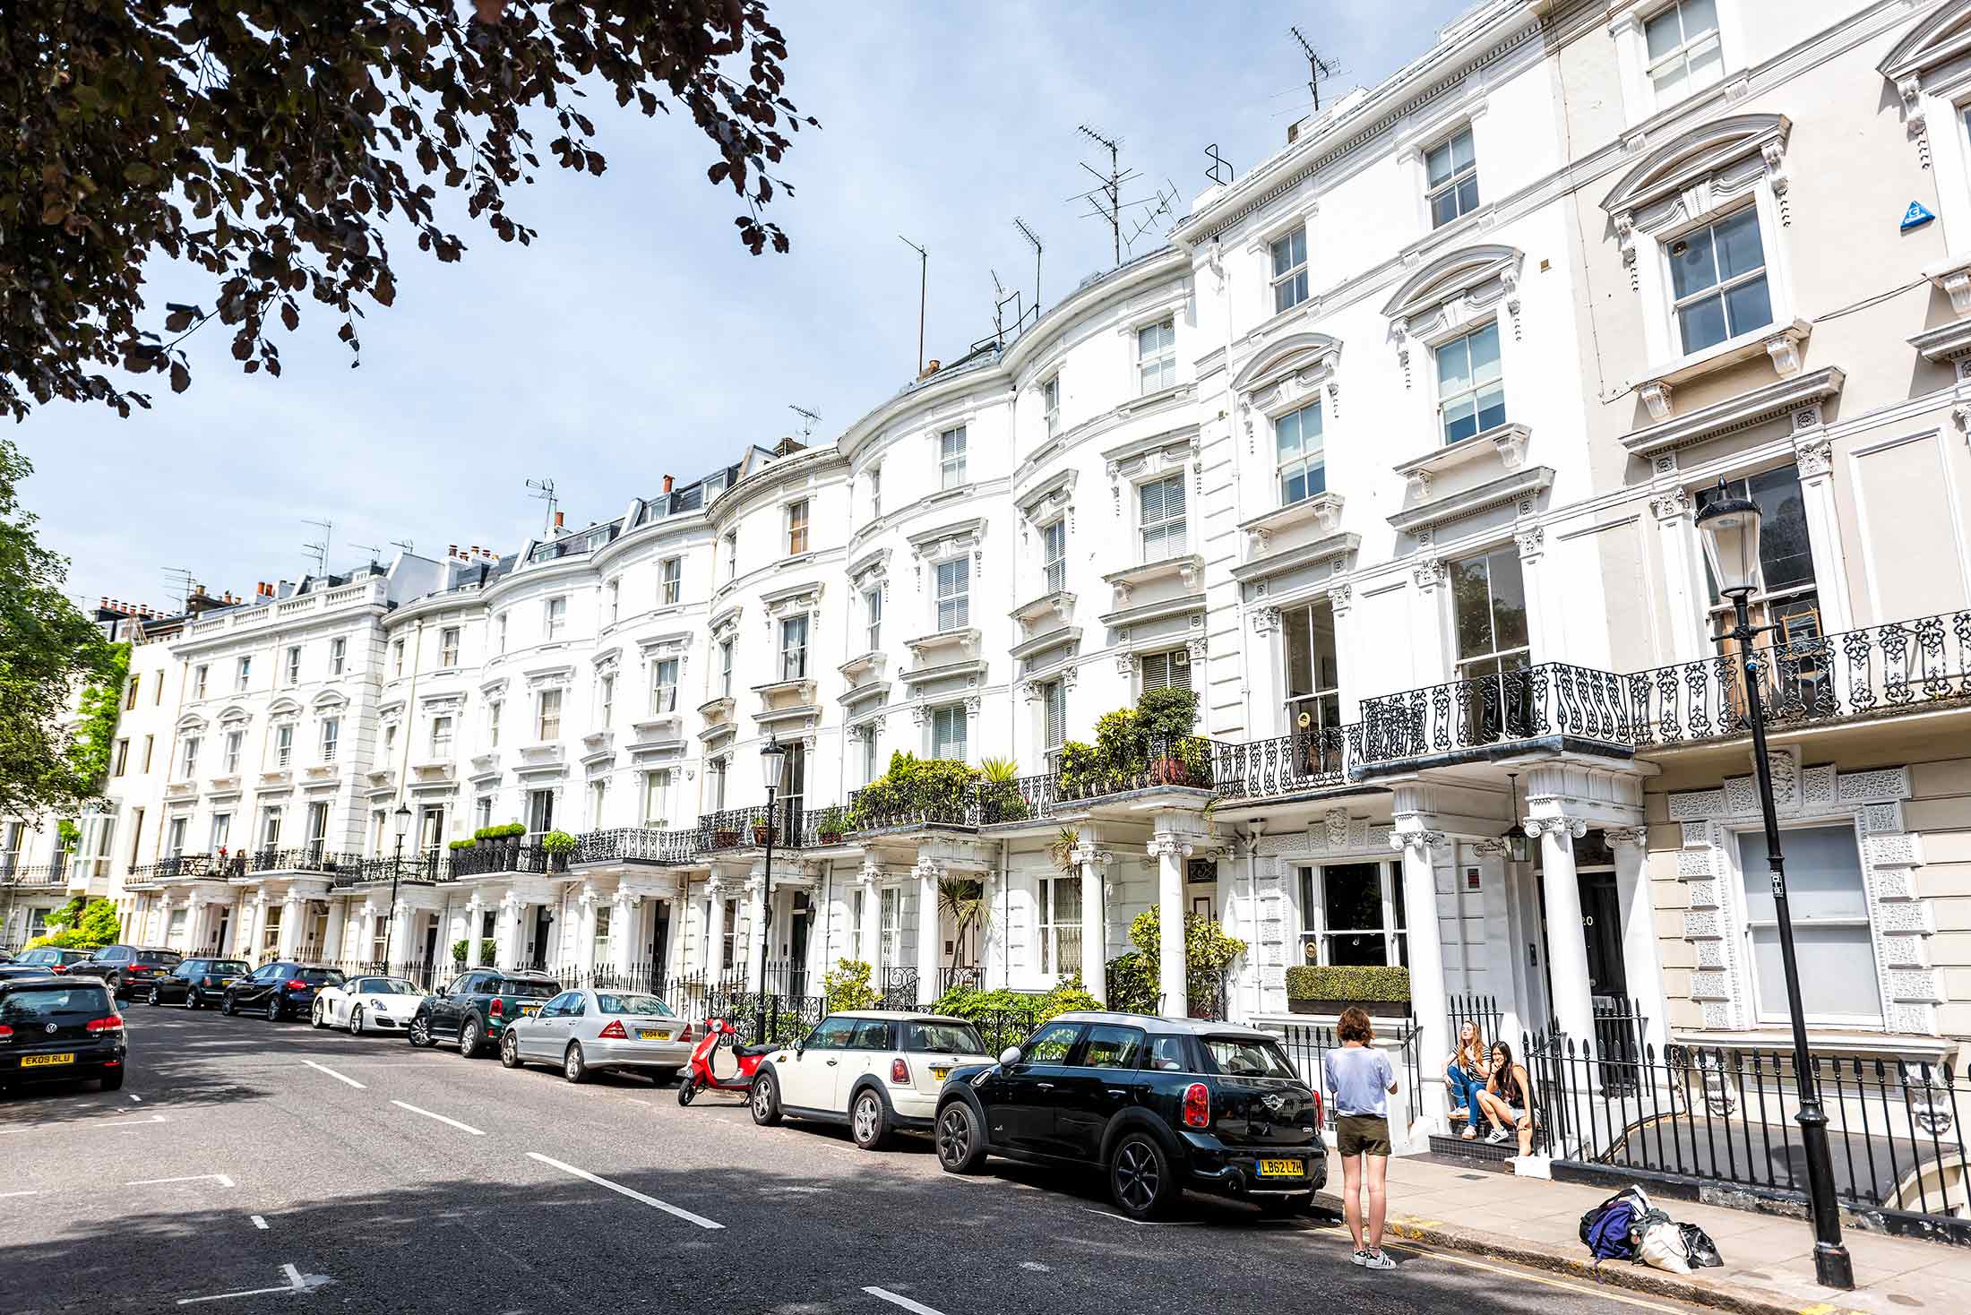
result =
M637 1071L668 1082L690 1063L692 1041L692 1023L656 996L579 988L507 1023L499 1059L509 1069L560 1065L570 1082L599 1071Z

